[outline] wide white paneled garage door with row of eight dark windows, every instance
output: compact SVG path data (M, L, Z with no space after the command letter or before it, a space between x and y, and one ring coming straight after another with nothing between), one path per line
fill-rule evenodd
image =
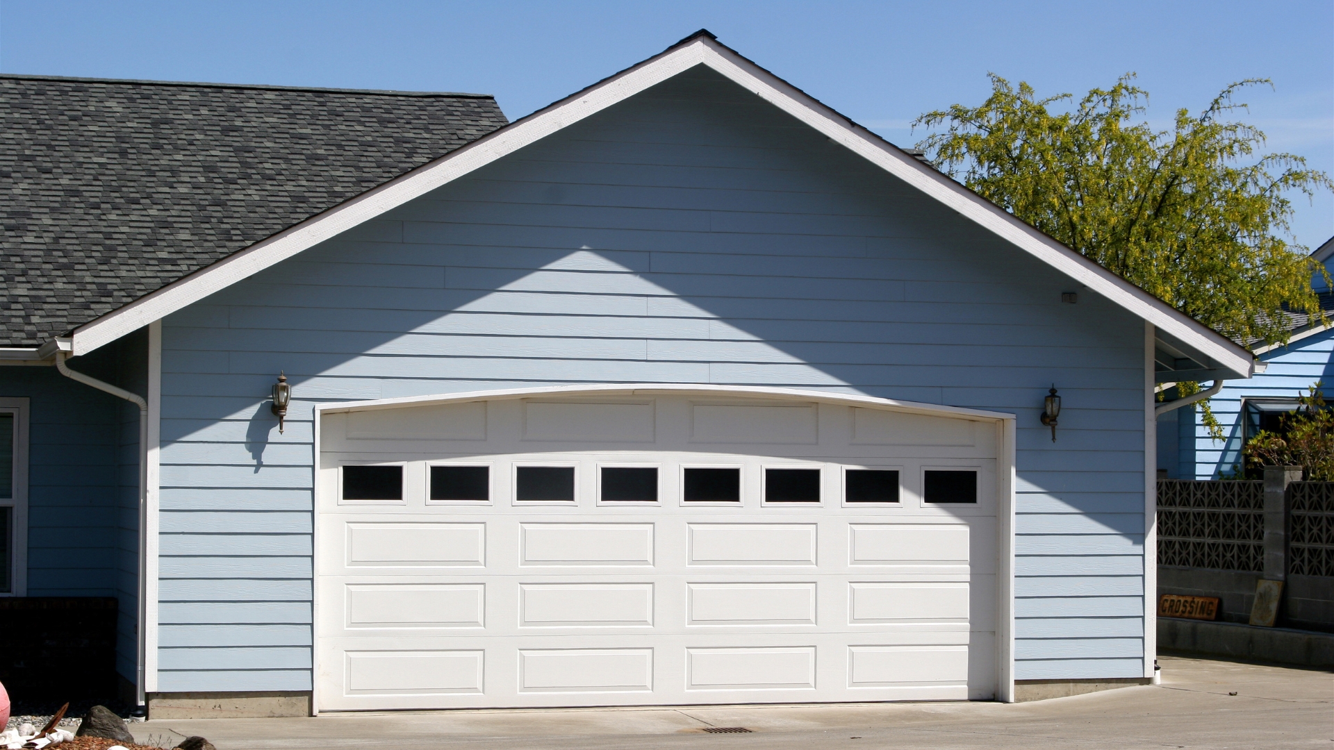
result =
M635 391L320 440L321 710L994 695L995 422Z

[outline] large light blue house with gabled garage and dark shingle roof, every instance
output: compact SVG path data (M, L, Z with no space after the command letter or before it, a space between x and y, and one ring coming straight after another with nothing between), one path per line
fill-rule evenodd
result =
M1151 678L1154 384L1250 354L712 35L508 124L0 85L5 587L151 713Z

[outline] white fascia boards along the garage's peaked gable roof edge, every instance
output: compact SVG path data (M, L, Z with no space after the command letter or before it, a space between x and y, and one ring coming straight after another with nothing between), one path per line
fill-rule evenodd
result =
M708 65L743 88L755 92L760 99L1039 258L1091 291L1149 320L1159 330L1198 347L1201 354L1211 358L1219 367L1243 378L1250 376L1253 359L1245 348L1182 315L1167 303L1083 255L1019 222L988 200L919 163L703 32L430 164L418 167L125 307L80 326L73 334L73 354L87 354L153 320L160 320L247 276L287 260L303 250L332 239L391 208L426 195L699 64Z

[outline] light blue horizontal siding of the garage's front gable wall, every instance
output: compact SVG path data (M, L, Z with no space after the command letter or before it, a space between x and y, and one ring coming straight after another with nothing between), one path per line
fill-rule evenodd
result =
M1015 677L1142 677L1142 336L696 68L164 320L159 689L311 689L313 403L627 382L1017 412Z

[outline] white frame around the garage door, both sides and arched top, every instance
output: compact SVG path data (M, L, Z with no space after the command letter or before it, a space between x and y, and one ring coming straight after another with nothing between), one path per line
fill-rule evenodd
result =
M860 406L896 411L902 414L918 414L924 416L943 416L970 420L990 420L996 430L996 613L995 613L995 674L996 699L1000 702L1014 701L1014 492L1015 492L1015 428L1017 416L999 411L983 411L952 406L903 402L862 396L852 394L834 394L827 391L811 391L802 388L772 388L759 386L714 386L714 384L663 384L663 383L636 383L636 384L603 384L603 386L552 386L538 388L506 388L491 391L464 391L455 394L408 396L398 399L376 399L363 402L338 402L315 404L315 444L312 466L317 467L321 446L321 419L331 414L344 414L352 411L371 411L386 408L403 408L408 406L443 406L459 402L475 400L508 400L532 396L588 396L588 395L703 395L703 396L752 396L764 399L791 399L803 402L830 403L842 406ZM320 496L320 471L313 471L315 496ZM313 512L319 512L315 508ZM313 548L320 548L319 523L313 524ZM315 560L313 575L319 577L319 560ZM320 634L320 587L313 587L312 602L312 633L313 642L319 643ZM319 649L312 649L312 678L320 674ZM320 710L320 681L312 679L312 713Z

